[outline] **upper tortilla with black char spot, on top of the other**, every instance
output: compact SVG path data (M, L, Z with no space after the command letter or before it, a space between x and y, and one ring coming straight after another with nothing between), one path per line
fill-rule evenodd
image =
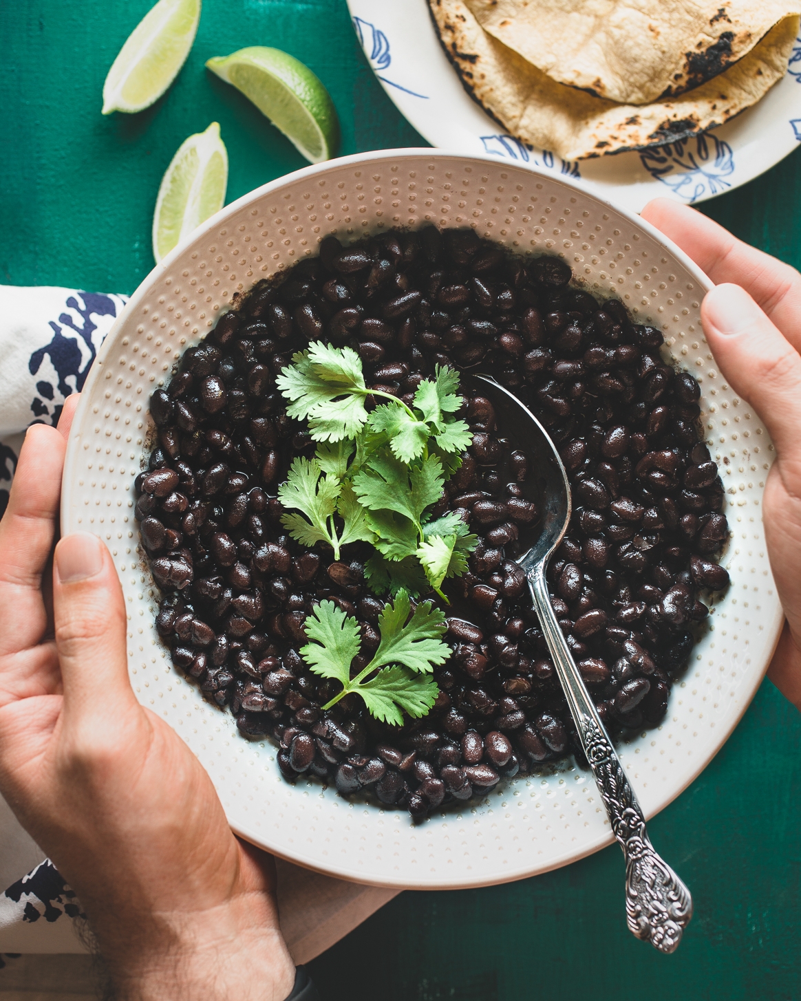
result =
M711 80L801 0L467 0L479 24L559 83L651 104Z

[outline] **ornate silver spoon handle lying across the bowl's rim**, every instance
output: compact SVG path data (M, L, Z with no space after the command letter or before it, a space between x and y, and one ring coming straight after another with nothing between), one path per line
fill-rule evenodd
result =
M629 929L660 952L673 952L693 916L690 892L651 844L643 811L595 704L584 686L551 607L545 567L541 565L533 569L528 580L534 607L540 617L587 760L607 808L612 830L626 858L626 915Z

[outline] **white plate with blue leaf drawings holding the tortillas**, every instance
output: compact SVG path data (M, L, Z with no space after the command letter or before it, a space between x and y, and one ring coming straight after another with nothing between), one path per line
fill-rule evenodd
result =
M692 203L730 191L801 141L801 38L784 79L728 124L666 146L568 161L507 135L468 95L440 45L427 0L347 0L347 6L381 86L433 146L567 175L632 212L660 196Z

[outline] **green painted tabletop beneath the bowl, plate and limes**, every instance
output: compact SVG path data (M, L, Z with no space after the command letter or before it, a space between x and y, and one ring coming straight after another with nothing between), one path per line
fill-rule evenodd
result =
M403 2L403 0L398 0ZM0 280L131 292L150 270L161 175L212 120L230 157L228 200L304 165L204 61L274 45L329 88L342 153L426 145L374 80L344 0L205 0L172 89L135 116L100 115L103 79L151 0L2 0ZM801 262L801 160L702 210ZM679 952L625 929L617 847L535 879L405 893L312 963L323 1001L790 1001L801 997L801 716L769 682L703 775L650 825L695 898Z

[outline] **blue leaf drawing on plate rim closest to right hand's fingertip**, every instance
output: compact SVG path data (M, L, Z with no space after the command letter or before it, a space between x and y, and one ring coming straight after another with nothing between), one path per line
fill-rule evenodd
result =
M731 187L734 153L714 132L645 149L640 160L652 177L689 202Z

